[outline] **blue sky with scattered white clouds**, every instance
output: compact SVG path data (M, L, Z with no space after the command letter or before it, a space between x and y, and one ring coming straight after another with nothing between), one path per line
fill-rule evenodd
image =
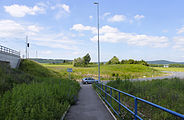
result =
M0 0L0 45L30 57L97 61L93 0ZM100 59L184 61L183 0L98 0Z

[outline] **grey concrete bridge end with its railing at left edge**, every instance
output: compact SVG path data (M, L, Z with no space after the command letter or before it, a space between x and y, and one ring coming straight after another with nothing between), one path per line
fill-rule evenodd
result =
M0 62L8 63L11 68L16 68L20 60L20 52L0 45Z

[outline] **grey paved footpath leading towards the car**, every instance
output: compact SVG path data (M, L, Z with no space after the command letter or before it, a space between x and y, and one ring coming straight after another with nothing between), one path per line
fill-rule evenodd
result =
M78 102L66 114L66 120L114 120L91 85L81 85Z

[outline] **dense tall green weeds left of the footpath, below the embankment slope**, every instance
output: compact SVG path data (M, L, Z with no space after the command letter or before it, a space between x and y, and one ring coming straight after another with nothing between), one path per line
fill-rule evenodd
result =
M1 97L0 119L60 119L75 103L79 88L75 81L59 79L17 85Z

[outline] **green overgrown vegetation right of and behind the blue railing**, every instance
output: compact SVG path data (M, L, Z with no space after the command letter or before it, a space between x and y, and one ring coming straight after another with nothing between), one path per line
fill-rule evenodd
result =
M178 78L152 81L116 80L109 82L107 85L184 114L184 80L180 80ZM110 93L109 89L107 89L107 91ZM113 91L112 95L118 99L117 92ZM107 97L107 99L110 101L109 97ZM121 94L121 102L134 111L133 98ZM115 101L112 101L112 105L118 111L118 104ZM124 108L121 108L120 114L124 119L133 119L133 115L127 112ZM138 101L138 115L146 120L178 119L173 115L140 101Z

